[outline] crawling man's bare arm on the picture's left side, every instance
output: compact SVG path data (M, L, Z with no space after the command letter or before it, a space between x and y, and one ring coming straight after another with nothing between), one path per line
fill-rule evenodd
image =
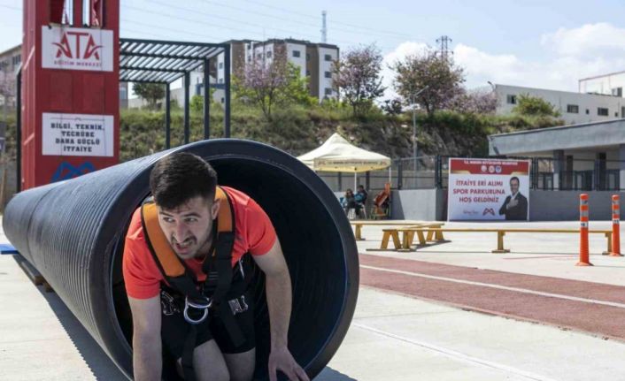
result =
M159 380L163 369L160 295L150 299L135 299L128 296L128 301L133 314L135 381Z

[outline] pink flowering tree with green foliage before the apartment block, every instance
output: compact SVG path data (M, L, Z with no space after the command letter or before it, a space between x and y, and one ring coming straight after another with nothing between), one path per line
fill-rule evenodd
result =
M276 105L313 103L308 94L308 81L300 75L297 65L287 62L286 54L274 50L272 60L252 60L233 80L235 97L255 103L267 120L271 120Z

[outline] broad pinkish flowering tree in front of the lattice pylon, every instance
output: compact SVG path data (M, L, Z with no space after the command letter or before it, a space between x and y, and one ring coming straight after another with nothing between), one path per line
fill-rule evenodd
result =
M395 62L392 69L396 72L395 89L404 102L421 106L428 115L449 108L463 94L464 71L454 65L451 57L425 51Z

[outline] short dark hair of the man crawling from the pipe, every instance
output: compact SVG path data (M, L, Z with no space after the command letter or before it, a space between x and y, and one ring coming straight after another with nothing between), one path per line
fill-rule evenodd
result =
M167 155L150 173L150 190L154 202L172 210L190 199L201 196L212 202L217 187L217 172L200 156L186 152Z

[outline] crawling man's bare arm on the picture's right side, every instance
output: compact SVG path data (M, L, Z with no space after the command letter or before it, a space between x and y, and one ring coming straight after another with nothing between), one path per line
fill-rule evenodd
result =
M269 379L275 381L276 371L282 370L289 380L309 381L288 348L289 319L291 311L291 285L289 268L280 241L265 255L252 255L254 261L265 272L267 307L271 326L271 353L269 354Z

